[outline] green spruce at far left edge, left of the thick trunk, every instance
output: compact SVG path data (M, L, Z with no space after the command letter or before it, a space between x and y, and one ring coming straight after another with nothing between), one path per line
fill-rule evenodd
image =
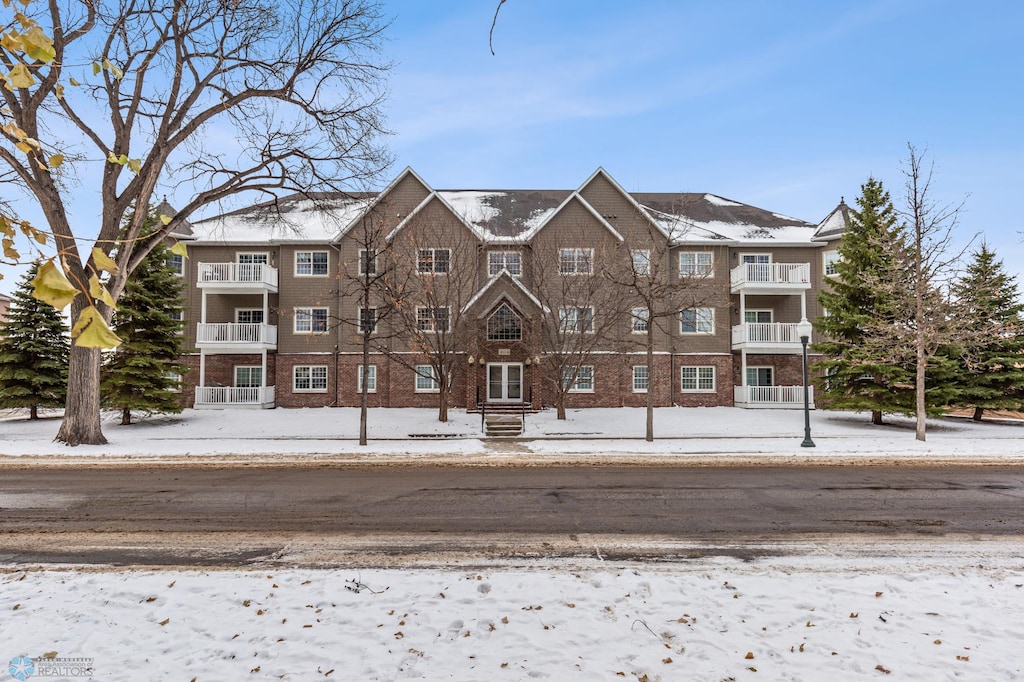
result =
M63 406L71 347L60 312L32 296L37 270L22 279L0 323L0 408L28 408L30 419Z

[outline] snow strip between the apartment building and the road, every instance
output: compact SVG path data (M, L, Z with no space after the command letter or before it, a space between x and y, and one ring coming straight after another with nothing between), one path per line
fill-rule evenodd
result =
M931 420L928 440L919 442L909 419L887 416L886 425L872 426L866 414L826 411L811 413L813 450L800 446L803 413L790 410L658 409L651 443L643 439L644 411L632 408L574 410L565 421L546 410L527 417L523 437L514 442L481 439L479 415L464 410L453 410L450 421L441 423L433 410L379 408L370 412L371 442L366 446L356 439L358 411L352 408L186 410L130 426L118 420L111 415L104 423L109 444L69 449L53 442L58 419L30 422L8 415L0 421L0 457L340 456L390 461L451 455L462 460L526 456L543 462L609 455L860 461L897 456L1024 461L1021 421Z

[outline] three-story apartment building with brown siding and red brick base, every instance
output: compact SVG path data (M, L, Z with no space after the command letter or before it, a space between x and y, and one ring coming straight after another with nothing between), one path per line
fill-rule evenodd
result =
M561 385L569 407L802 407L797 324L820 314L845 219L631 194L603 169L562 190L438 190L407 169L246 208L185 238L184 396L354 406L366 382L372 406L540 408Z

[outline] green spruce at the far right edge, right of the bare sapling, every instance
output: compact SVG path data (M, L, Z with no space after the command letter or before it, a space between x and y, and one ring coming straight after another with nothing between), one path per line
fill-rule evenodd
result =
M956 349L957 403L974 408L976 421L986 409L1019 410L1024 401L1024 305L1016 279L982 244L952 294L957 328L972 332Z

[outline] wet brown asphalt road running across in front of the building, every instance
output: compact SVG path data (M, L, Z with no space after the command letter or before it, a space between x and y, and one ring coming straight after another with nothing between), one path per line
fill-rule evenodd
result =
M0 562L244 563L386 538L409 551L865 534L1024 538L1024 467L0 470Z

